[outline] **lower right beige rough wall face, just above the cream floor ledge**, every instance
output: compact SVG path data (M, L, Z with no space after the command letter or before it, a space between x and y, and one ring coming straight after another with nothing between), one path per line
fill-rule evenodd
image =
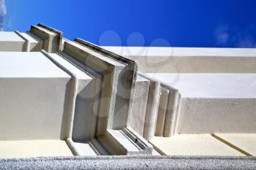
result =
M176 134L256 133L256 98L181 98Z

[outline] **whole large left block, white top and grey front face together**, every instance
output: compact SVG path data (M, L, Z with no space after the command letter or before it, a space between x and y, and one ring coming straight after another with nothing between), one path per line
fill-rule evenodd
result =
M60 139L69 74L42 53L0 53L0 139Z

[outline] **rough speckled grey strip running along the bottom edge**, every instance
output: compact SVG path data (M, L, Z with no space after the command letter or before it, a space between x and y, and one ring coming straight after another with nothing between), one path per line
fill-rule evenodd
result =
M1 169L256 169L256 158L100 156L0 160Z

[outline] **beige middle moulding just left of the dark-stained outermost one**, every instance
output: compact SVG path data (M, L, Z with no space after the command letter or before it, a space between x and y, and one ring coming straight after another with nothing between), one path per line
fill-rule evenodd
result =
M125 98L120 99L123 94L121 91L124 90L123 83L120 82L124 80L126 64L75 42L65 42L63 52L102 75L102 93L97 102L99 104L97 134L99 136L105 134L107 127L113 128L114 121L126 125L126 112L120 108L123 107L125 100ZM124 104L124 107L127 106Z

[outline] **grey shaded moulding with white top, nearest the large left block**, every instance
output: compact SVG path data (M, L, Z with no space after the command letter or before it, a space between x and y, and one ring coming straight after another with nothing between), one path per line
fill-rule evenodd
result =
M96 133L97 126L97 112L94 112L94 101L97 99L97 91L99 91L98 81L91 74L75 66L65 59L62 53L53 54L48 53L48 57L52 59L57 66L63 68L68 72L72 78L76 79L77 90L74 96L75 108L72 112L67 112L66 122L67 133L64 134L65 138L72 138L74 141L85 142L93 138ZM73 87L74 88L74 87ZM71 96L69 98L71 100ZM69 110L67 107L66 110ZM69 126L70 124L70 126Z

